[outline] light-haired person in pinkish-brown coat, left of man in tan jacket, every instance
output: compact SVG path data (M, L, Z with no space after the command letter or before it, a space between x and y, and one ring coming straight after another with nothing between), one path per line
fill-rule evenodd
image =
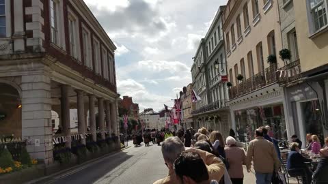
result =
M226 152L226 161L229 163L228 173L233 184L243 184L244 172L243 165L246 164L246 154L243 148L236 146L236 139L232 136L226 138L228 147L224 148Z

